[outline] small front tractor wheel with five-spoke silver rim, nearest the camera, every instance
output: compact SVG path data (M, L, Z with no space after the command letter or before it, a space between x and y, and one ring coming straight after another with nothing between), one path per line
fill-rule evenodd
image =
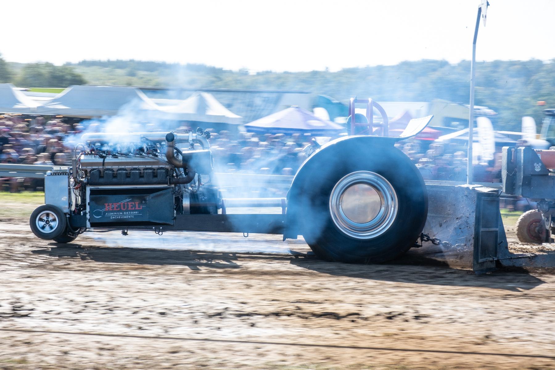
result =
M29 217L31 231L44 240L53 240L65 232L65 215L62 210L51 204L37 207Z

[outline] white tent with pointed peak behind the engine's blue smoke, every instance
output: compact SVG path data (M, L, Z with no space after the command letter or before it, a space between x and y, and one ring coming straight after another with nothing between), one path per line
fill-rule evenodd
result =
M178 121L198 121L240 125L241 116L225 108L210 93L194 93L178 105L157 107L165 113L164 118Z

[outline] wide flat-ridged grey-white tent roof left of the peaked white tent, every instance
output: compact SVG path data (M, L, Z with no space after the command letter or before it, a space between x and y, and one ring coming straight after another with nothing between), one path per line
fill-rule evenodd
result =
M158 106L136 88L75 85L38 107L37 113L89 118L117 115L126 107L158 110Z

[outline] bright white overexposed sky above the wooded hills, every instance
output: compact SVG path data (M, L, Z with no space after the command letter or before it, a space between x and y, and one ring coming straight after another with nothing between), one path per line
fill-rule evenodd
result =
M2 2L10 62L163 60L339 70L470 59L479 0ZM555 58L555 1L490 0L477 60Z

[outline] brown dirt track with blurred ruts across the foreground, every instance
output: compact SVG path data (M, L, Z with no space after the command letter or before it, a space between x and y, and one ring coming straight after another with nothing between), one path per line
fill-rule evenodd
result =
M88 235L62 247L23 221L0 222L0 237L2 369L555 368L550 271L477 276L186 249L244 240L225 234L190 234L173 250ZM203 338L216 341L190 340Z

